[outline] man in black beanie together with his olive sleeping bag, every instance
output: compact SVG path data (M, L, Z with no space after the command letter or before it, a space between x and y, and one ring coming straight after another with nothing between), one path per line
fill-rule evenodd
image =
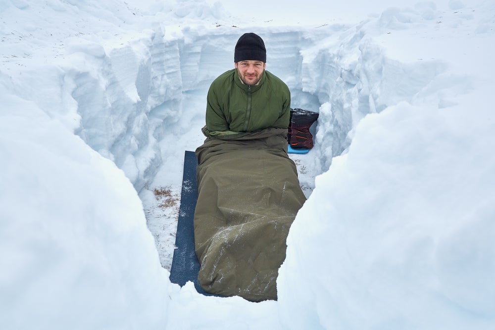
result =
M206 292L277 299L286 239L305 201L287 155L291 94L268 71L263 40L244 34L235 69L207 94L194 216L198 282Z

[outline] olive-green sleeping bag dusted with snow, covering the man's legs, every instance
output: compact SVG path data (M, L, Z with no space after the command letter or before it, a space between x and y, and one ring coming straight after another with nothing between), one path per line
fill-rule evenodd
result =
M305 201L286 136L287 129L267 128L207 138L196 149L194 233L206 292L277 299L286 238Z

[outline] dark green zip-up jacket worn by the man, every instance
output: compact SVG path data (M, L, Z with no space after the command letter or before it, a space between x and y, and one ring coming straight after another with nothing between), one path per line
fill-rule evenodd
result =
M291 92L277 76L265 70L256 86L241 82L237 69L211 83L206 98L206 129L210 137L227 138L265 128L288 128Z

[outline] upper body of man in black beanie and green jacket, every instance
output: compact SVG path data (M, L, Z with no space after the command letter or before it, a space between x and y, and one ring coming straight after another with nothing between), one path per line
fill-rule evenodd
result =
M234 62L235 69L215 79L208 91L209 136L289 127L291 93L282 80L265 71L263 40L254 33L241 36L235 47Z

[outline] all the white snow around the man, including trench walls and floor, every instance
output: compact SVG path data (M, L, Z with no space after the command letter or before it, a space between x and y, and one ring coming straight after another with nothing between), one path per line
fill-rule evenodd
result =
M494 329L495 2L327 2L0 1L0 328ZM319 113L261 303L168 279L246 32Z

